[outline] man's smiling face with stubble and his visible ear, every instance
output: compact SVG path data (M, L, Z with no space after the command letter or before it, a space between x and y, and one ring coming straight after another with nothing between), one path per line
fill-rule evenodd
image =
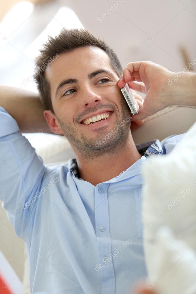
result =
M46 75L55 116L52 119L51 111L45 111L44 116L51 129L58 134L64 133L79 152L100 155L128 138L130 109L116 85L118 76L105 51L91 46L60 54L47 67ZM91 121L86 121L87 118L94 121L93 117L101 113L109 117L87 123ZM115 125L123 120L124 125L122 123L123 126L117 129ZM108 136L110 131L112 135Z

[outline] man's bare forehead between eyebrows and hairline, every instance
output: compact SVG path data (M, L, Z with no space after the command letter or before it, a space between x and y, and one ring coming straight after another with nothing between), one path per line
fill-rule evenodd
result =
M95 46L86 46L74 49L68 53L61 53L56 60L46 68L46 77L54 90L64 78L78 80L93 70L105 68L114 73L108 54Z

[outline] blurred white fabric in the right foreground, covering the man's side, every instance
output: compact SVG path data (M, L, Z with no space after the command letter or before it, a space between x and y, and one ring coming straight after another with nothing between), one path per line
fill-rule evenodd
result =
M148 283L159 294L196 293L196 123L143 168Z

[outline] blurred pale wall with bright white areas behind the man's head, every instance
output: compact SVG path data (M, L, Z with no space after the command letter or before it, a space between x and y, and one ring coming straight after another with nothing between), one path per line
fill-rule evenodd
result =
M32 91L38 49L63 26L104 39L123 67L149 60L177 72L196 58L196 0L1 0L0 20L0 83Z

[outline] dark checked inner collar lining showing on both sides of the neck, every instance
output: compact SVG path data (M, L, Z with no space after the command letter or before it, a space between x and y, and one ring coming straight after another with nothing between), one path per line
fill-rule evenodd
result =
M136 144L135 146L138 149L138 152L140 153L141 156L148 157L149 155L152 155L152 154L163 153L163 149L158 139L147 141L141 144ZM78 179L80 178L76 158L71 158L68 161L68 168L76 178Z

